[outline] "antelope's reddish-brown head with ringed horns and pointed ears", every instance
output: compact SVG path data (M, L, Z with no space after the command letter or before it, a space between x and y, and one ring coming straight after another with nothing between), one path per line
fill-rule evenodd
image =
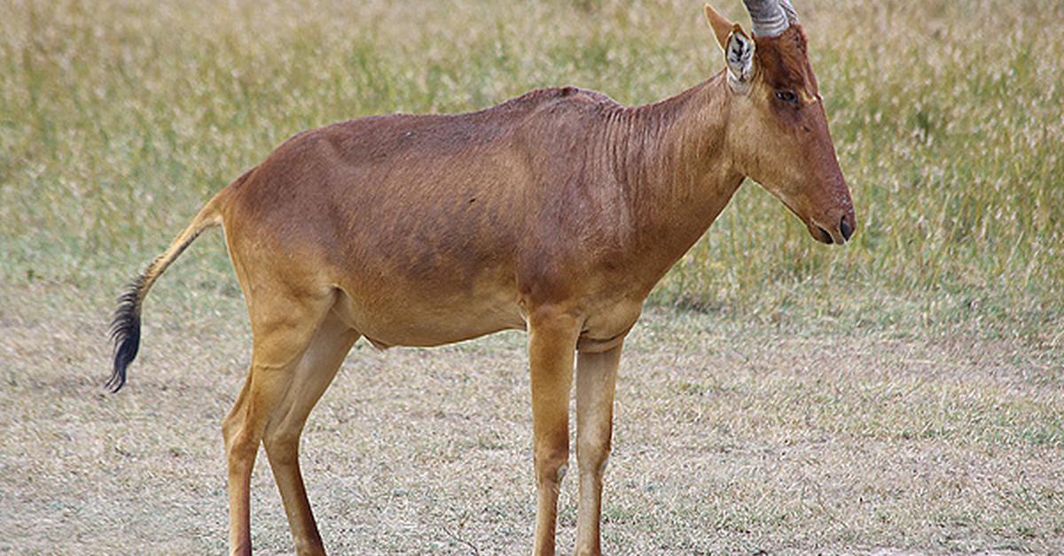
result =
M710 5L705 17L728 65L726 144L735 167L786 205L825 243L857 228L828 132L805 34L789 0L744 0L752 36Z

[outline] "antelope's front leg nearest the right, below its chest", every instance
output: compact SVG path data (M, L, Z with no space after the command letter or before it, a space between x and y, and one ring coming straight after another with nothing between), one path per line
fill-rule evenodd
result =
M577 464L580 504L577 510L578 555L601 554L599 517L602 473L613 433L613 393L620 346L601 353L580 352L577 359Z

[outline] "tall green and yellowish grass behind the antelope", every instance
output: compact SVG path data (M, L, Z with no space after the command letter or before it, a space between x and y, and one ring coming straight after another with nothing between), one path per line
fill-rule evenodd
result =
M748 184L652 300L1059 346L1064 5L799 4L855 241L814 242ZM722 66L700 17L699 2L2 2L0 280L113 296L303 129L545 85L677 94ZM221 242L203 243L167 281L234 294Z

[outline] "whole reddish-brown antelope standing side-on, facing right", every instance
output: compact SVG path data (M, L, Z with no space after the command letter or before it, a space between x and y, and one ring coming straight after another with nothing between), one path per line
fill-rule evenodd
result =
M356 339L439 346L508 328L529 334L533 552L554 552L573 359L576 552L600 552L617 365L654 284L744 178L819 241L844 243L855 226L794 10L745 3L752 37L705 6L727 69L654 104L549 88L470 114L299 134L207 202L148 266L115 316L116 391L149 288L201 232L225 229L253 334L251 369L222 423L233 553L251 550L261 442L297 551L323 552L299 437Z

